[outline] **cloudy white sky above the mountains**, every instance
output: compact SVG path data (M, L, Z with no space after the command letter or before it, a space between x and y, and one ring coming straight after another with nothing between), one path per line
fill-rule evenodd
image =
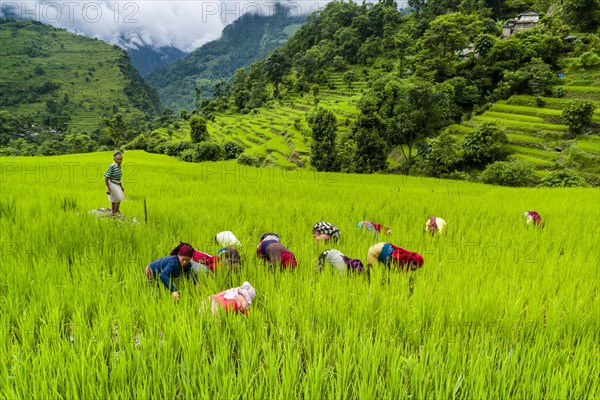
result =
M290 16L300 16L319 10L327 1L282 3L289 7ZM247 12L272 15L276 2L0 0L0 4L5 17L34 19L123 47L174 46L190 52L218 39L226 25Z

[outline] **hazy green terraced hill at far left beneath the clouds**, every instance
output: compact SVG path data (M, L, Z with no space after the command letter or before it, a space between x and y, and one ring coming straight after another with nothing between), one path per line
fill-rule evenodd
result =
M122 113L135 135L160 110L156 90L118 47L34 21L0 20L0 40L0 146L20 138L39 150L58 133L60 147L70 133L93 140L91 151L111 144L104 117Z

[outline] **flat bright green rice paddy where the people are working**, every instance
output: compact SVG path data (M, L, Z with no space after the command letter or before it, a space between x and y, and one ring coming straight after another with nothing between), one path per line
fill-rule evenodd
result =
M100 219L110 153L0 158L0 398L590 399L600 397L599 189L512 189L392 175L255 169L124 155L127 221ZM148 221L144 221L144 199ZM544 229L526 227L538 211ZM447 232L425 234L427 218ZM133 221L135 218L135 221ZM368 219L425 258L406 273L315 270L326 247L366 261ZM176 283L143 270L180 240L243 268ZM295 271L259 263L277 232ZM199 311L250 281L249 316Z

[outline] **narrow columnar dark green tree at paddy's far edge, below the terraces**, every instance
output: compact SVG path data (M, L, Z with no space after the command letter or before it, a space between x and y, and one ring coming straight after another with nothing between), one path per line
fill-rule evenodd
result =
M309 118L309 124L313 138L310 146L310 163L317 171L337 171L335 114L319 108L316 114Z

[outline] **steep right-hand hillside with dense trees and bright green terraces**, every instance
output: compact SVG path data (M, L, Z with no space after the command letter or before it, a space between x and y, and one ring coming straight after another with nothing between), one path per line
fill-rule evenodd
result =
M182 137L208 143L169 147L158 131L131 146L191 161L233 154L213 140L252 165L600 183L595 3L410 4L405 15L393 1L329 3L180 114Z

